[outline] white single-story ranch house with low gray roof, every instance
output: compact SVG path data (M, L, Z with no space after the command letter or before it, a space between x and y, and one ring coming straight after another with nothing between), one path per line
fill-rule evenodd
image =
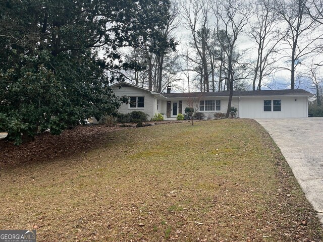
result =
M214 118L216 112L227 112L229 92L156 93L135 85L119 82L111 86L117 96L129 96L130 102L122 104L119 111L129 113L140 110L153 117L161 113L166 120L183 113L193 99L198 112ZM297 90L235 91L231 106L238 109L237 117L286 118L307 117L311 93Z

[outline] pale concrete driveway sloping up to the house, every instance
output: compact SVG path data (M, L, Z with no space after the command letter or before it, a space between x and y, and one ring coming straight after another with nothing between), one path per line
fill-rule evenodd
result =
M323 117L255 120L281 149L323 223Z

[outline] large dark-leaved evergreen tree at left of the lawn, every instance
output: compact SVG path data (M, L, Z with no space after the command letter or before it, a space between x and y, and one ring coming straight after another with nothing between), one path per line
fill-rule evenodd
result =
M158 35L170 4L156 0L2 0L0 132L17 144L116 114L120 47Z

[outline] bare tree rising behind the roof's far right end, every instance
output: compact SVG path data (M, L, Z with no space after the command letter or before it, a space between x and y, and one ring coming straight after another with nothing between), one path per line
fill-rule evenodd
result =
M318 31L317 22L306 14L308 0L275 0L273 8L279 20L286 24L285 47L281 49L290 67L282 69L291 72L291 89L295 89L295 69L304 58L317 52L317 41L323 34Z

